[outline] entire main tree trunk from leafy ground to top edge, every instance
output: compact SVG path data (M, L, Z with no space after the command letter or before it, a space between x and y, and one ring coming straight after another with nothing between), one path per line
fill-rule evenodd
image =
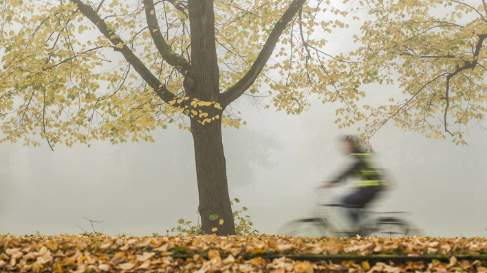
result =
M213 0L189 0L191 31L191 73L186 76L186 93L204 102L218 102L219 68L215 45L215 14ZM190 80L188 80L190 79ZM228 196L226 163L221 141L222 110L199 106L195 110L206 117L191 117L191 134L195 143L196 179L199 193L199 215L202 230L217 235L235 235L232 207ZM218 116L218 117L217 117ZM205 118L214 120L203 122ZM210 220L210 215L218 219ZM224 219L219 224L219 219ZM216 232L212 229L217 228Z

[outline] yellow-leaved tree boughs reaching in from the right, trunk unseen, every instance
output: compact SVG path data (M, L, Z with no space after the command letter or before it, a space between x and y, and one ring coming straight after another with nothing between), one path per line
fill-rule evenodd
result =
M398 82L402 99L371 111L367 142L391 120L433 139L463 134L482 122L487 101L487 5L462 0L360 1L368 19L355 36L361 47L349 69L359 84ZM360 128L359 128L360 130ZM485 128L484 128L485 130Z

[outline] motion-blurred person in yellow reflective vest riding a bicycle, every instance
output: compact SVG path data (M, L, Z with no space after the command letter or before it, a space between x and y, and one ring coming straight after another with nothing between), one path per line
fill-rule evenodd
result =
M349 167L349 169L345 169L334 180L322 183L317 188L334 187L347 177L358 178L355 182L357 186L356 191L343 198L343 204L348 208L351 222L354 228L358 229L362 209L365 209L371 200L377 198L378 193L387 186L387 182L383 178L382 171L374 162L374 155L361 150L358 147L358 143L351 136L340 139L340 144L341 150L350 156L354 156L354 165ZM360 234L360 230L356 231Z

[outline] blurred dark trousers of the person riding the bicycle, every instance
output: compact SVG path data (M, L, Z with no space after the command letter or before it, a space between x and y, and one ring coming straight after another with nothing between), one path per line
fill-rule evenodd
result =
M361 217L362 210L367 203L377 197L377 193L382 189L380 186L360 187L358 191L351 193L343 198L343 204L348 208L351 222L356 226Z

